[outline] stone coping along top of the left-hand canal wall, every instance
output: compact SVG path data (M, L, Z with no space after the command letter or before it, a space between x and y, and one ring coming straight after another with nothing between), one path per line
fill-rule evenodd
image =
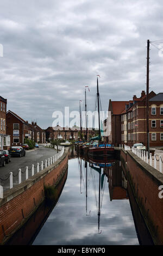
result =
M57 168L62 162L62 160L65 159L65 157L68 154L68 148L65 149L64 155L60 157L57 161L55 161L53 164L48 166L47 168L40 170L39 173L36 173L34 176L30 176L29 179L23 181L21 184L16 185L15 187L8 189L4 192L3 198L0 199L0 206L3 204L9 202L14 197L18 196L18 194L23 193L26 191L29 187L33 186L37 181L42 179L44 176L46 176L49 172L51 172L53 169Z

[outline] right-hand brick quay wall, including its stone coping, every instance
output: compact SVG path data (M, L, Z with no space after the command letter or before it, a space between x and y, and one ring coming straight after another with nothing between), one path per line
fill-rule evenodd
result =
M121 149L120 160L154 244L163 245L163 174L130 150Z

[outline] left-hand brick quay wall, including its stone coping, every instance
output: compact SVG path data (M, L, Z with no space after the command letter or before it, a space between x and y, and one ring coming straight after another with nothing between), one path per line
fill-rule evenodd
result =
M68 148L55 163L4 192L0 199L0 244L3 245L45 199L45 186L57 186L68 168Z

